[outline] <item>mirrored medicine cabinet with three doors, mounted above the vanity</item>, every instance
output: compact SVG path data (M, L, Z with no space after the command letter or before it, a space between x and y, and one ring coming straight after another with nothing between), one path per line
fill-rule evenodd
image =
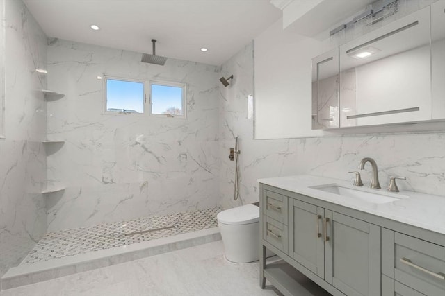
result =
M312 60L312 129L445 119L445 1Z

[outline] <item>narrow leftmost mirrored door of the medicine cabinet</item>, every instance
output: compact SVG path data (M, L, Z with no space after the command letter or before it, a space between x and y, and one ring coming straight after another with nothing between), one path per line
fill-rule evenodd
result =
M339 127L339 49L312 59L312 130Z

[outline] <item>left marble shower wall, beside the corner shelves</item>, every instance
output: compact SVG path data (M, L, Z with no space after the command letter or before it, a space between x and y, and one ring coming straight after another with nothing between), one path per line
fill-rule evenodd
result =
M0 276L47 230L40 193L46 180L47 37L22 1L6 0L5 139L0 139Z

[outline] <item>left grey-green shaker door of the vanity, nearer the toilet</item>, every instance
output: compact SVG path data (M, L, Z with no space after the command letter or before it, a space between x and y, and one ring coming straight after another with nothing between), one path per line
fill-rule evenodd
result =
M325 277L323 216L321 207L289 200L289 256L322 279Z

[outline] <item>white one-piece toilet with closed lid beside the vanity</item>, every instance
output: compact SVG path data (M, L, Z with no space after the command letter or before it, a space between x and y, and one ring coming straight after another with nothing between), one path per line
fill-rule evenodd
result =
M221 211L216 218L228 261L259 260L259 207L245 204Z

